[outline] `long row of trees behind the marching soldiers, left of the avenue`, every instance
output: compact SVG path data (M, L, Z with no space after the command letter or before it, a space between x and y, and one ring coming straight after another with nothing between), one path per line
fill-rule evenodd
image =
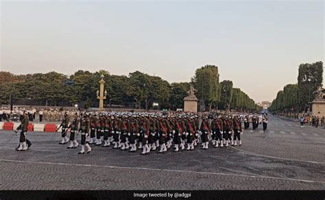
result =
M60 102L77 104L85 102L91 106L97 102L96 91L99 80L104 75L105 89L108 92L104 104L129 104L134 108L152 109L153 102L160 109L183 108L183 99L190 85L197 92L197 98L204 100L211 109L258 111L258 107L241 89L233 88L231 80L219 82L219 71L215 65L206 65L195 71L191 82L173 82L169 84L158 76L149 76L134 71L128 76L112 75L99 70L94 73L79 70L70 76L51 71L47 74L14 75L0 71L0 100L8 102L10 94L14 98L27 98L46 104L60 105ZM202 90L203 89L203 90Z

